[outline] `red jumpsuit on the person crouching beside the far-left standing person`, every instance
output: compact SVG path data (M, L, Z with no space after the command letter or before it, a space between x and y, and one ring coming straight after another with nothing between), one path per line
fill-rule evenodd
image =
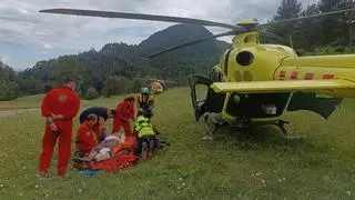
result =
M90 153L90 151L99 144L98 134L92 128L89 127L88 122L80 124L77 132L77 151L83 153Z

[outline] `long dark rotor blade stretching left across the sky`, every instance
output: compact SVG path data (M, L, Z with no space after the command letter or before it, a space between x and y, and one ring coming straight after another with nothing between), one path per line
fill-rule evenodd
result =
M135 20L178 22L178 23L187 23L187 24L195 24L195 26L221 27L221 28L227 28L227 29L240 28L233 24L193 19L193 18L180 18L180 17L129 13L129 12L110 12L110 11L79 10L79 9L47 9L47 10L40 10L40 12L73 14L73 16L89 16L89 17L100 17L100 18L123 18L123 19L135 19Z

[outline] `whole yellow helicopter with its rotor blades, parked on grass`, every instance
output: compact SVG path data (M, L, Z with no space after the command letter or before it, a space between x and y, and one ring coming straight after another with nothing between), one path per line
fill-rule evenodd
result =
M49 9L40 12L91 16L102 18L124 18L152 21L212 26L231 29L231 31L182 43L151 54L173 51L210 39L234 36L233 43L221 57L210 77L191 76L192 104L196 121L203 117L209 137L222 124L230 124L237 130L247 130L254 124L275 124L287 134L282 119L283 113L296 110L310 110L327 119L342 102L342 98L355 98L355 54L298 57L296 51L286 46L262 44L261 33L267 26L293 22L302 19L352 12L346 9L302 18L293 18L258 24L244 20L237 24L214 21L153 16L126 12L108 12L95 10ZM196 86L209 88L204 100L196 99ZM318 97L326 94L332 98ZM213 113L221 113L216 120ZM207 120L212 119L210 129Z

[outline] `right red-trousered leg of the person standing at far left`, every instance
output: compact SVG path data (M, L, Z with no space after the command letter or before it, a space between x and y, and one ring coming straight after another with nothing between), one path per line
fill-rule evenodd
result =
M65 174L67 167L70 160L72 124L63 124L62 130L63 131L61 132L59 140L59 158L57 171L57 174L59 177Z

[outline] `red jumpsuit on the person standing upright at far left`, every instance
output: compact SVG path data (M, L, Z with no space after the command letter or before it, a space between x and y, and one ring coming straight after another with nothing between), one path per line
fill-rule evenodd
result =
M67 171L68 162L71 154L71 136L73 118L80 109L80 98L69 87L50 90L41 106L42 117L51 117L51 114L62 114L63 119L54 120L58 131L52 132L49 124L45 126L45 132L42 139L42 152L40 157L39 170L41 173L47 173L53 149L59 138L58 153L58 176L63 176Z

